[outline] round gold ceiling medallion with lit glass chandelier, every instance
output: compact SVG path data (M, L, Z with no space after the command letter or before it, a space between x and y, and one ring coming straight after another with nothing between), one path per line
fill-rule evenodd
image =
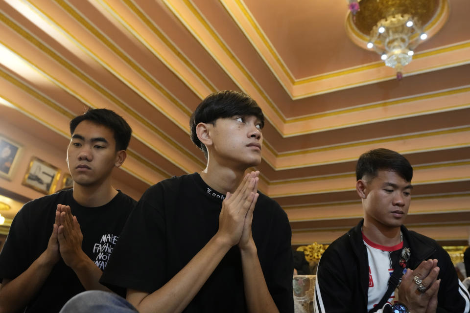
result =
M415 48L444 26L448 0L348 0L346 31L362 48L375 50L397 79Z

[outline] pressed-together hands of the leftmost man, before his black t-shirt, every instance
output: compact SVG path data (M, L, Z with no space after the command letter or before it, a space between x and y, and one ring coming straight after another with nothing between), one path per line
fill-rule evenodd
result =
M47 255L53 264L62 258L71 268L82 260L86 254L82 250L83 234L76 216L70 206L57 204L55 222L47 245Z

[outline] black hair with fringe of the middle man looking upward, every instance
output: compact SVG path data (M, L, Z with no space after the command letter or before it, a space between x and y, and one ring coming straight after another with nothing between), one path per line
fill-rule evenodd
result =
M199 140L196 134L196 126L199 123L215 124L218 118L227 118L235 115L254 115L264 127L264 115L255 100L241 91L222 90L211 93L197 106L189 119L189 128L192 142L204 152L207 158L206 146Z

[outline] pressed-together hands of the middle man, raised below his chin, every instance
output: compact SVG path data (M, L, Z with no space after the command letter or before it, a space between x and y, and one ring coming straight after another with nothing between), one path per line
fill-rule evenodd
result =
M258 200L259 171L246 174L232 194L222 202L217 235L229 246L238 245L240 249L255 248L251 233L253 211Z

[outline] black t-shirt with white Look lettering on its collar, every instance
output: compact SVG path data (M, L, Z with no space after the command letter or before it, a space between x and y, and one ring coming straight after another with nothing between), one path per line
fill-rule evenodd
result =
M147 189L100 282L149 293L162 287L215 235L223 198L199 174L166 179ZM280 312L293 312L287 215L276 201L260 193L252 229L268 289ZM246 311L241 256L234 246L184 312Z

